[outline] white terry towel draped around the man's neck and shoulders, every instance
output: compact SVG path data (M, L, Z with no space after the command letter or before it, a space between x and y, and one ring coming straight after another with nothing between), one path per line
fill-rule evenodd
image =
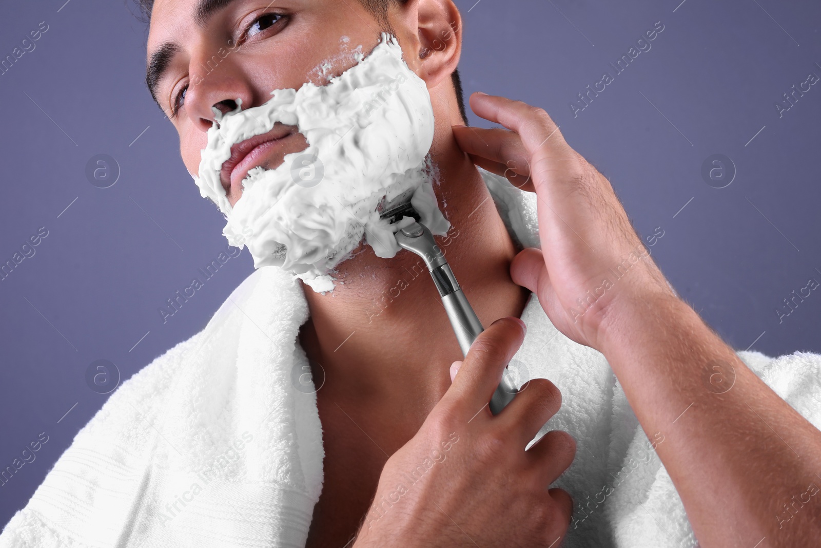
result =
M539 246L535 196L483 176L511 236ZM11 518L0 548L305 546L324 457L297 338L308 315L291 275L251 274L199 334L108 398ZM536 437L562 429L578 440L557 482L576 500L565 546L694 546L603 355L559 333L533 295L522 319L528 332L511 371L520 385L546 377L562 390L562 409ZM739 355L821 426L821 356ZM604 486L612 493L599 504Z

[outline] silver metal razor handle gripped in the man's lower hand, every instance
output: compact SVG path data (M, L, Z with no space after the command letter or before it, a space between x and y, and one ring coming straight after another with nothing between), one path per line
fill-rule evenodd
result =
M433 283L438 289L439 296L442 297L447 319L451 321L462 356L467 356L470 345L484 331L484 327L482 327L482 323L476 316L473 307L470 306L465 293L459 287L456 276L453 275L450 265L447 264L442 250L436 245L429 229L422 223L417 222L402 228L396 233L396 236L397 242L402 248L413 251L424 259ZM518 391L516 385L513 385L507 375L507 366L505 366L502 381L496 391L493 392L493 397L490 398L490 412L493 415L498 415L508 403L513 401Z

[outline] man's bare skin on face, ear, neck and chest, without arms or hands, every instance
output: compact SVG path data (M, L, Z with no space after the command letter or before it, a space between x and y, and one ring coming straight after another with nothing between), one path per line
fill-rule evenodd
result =
M228 39L235 39L232 45L237 43L236 35L216 30L232 28L233 21L250 24L268 3L235 2L209 21L210 31L200 30L192 21L193 0L158 0L154 6L149 56L167 40L188 38L181 44L184 52L172 62L167 81L158 86L157 96L170 114L170 98L189 84L185 106L171 120L191 173L198 172L213 105L225 112L230 108L221 102L239 97L244 106L256 106L267 100L269 90L299 87L305 81L319 83L314 68L328 58L335 60L332 76L342 73L354 63L341 48L343 35L349 37L351 48L362 44L366 52L378 44L380 25L357 2L277 2L277 8L294 12L287 26L248 40L202 81L195 78L219 48L227 47ZM437 193L440 204L449 204L446 213L454 226L448 239L438 237L438 242L484 325L508 315L518 317L529 292L510 276L516 249L481 176L458 149L451 130L452 124L461 123L450 79L460 51L458 35L452 32L459 27L458 12L449 2L411 2L408 8L392 14L391 22L405 58L427 83L433 104L436 127L431 154L446 182ZM447 36L448 30L452 36L445 40L443 33ZM421 60L425 48L429 53ZM289 62L272 63L271 58ZM200 83L191 85L195 81ZM285 154L304 146L299 140L286 140L281 150L260 159L260 165L275 168ZM232 204L239 199L231 194L235 190L240 189L227 187ZM326 378L317 393L326 454L323 491L314 510L309 546L332 542L344 546L351 539L374 497L388 456L420 430L451 385L448 365L461 358L427 274L374 315L380 310L374 296L390 292L403 276L410 279L406 273L418 270L418 256L400 253L385 260L364 244L354 252L355 259L339 265L338 277L346 283L333 293L322 296L304 288L310 320L300 331L300 343L310 358L322 364ZM393 343L386 346L386 340ZM424 357L420 357L419 340L426 341ZM562 460L569 465L566 454L571 452L564 449L564 454Z

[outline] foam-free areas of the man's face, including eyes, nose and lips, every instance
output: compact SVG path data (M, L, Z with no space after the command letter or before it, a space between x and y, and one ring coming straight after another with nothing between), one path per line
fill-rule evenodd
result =
M166 54L154 93L177 128L188 171L198 175L212 107L227 112L241 99L244 110L264 104L272 90L326 84L355 64L356 48L369 53L380 30L357 0L157 0L149 66L157 67L153 56ZM232 206L250 168L277 168L286 154L307 146L296 127L279 122L265 136L267 142L246 156L235 145L223 164L222 186ZM236 163L235 154L245 159Z

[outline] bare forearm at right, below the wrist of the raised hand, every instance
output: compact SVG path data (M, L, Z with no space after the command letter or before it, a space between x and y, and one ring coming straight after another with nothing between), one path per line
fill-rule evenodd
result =
M821 486L821 432L685 302L642 295L613 304L603 354L644 431L665 436L658 455L701 546L819 538L821 494L804 494ZM802 495L803 506L792 506Z

